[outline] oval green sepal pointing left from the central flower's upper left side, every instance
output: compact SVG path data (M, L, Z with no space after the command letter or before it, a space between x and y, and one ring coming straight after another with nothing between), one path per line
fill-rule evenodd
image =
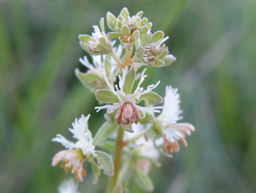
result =
M97 101L102 103L118 103L119 102L118 97L108 89L96 90L95 96Z

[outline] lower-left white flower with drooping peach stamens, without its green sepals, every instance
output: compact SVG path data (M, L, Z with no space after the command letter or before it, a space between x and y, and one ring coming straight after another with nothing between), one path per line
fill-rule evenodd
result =
M62 161L61 166L66 172L71 169L72 173L75 173L75 177L78 181L83 181L83 176L86 172L83 168L83 162L92 159L97 156L95 154L92 133L88 129L88 119L90 115L84 117L84 115L72 123L73 129L69 128L69 131L73 133L73 137L78 139L76 143L70 142L61 134L57 134L52 139L53 142L61 143L68 150L60 151L53 157L52 165L57 165Z

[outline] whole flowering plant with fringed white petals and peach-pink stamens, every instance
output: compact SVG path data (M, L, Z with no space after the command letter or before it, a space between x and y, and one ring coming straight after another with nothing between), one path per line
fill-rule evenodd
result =
M88 71L83 73L75 69L75 74L85 87L95 92L101 105L95 107L97 112L107 109L106 122L92 137L88 128L90 115L82 115L69 129L76 142L61 134L52 139L66 148L55 154L53 166L61 162L66 172L71 169L75 178L83 181L86 176L83 163L89 162L94 184L102 169L110 176L107 193L129 191L131 180L143 190L153 191L153 182L148 175L151 164L160 167L159 156L172 157L171 153L180 149L179 141L187 146L185 137L195 131L192 124L177 123L182 119L177 88L166 86L163 99L152 91L160 81L146 89L141 86L147 77L146 68L142 73L138 73L138 69L168 66L176 60L162 44L168 37L164 38L162 31L152 34L152 23L141 18L142 14L139 12L131 17L127 8L123 8L118 17L108 12L107 25L112 32L105 32L102 18L100 28L93 26L92 36L79 35L80 45L92 55L93 64L86 56L80 58ZM117 41L114 39L120 41L119 46L115 46ZM138 83L135 84L136 80ZM163 106L159 105L162 102ZM155 113L160 114L156 116ZM74 181L63 182L59 192L69 192L68 189L77 192Z

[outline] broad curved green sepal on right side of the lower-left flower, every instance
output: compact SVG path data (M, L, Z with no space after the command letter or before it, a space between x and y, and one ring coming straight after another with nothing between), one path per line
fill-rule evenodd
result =
M108 175L108 176L113 176L114 175L114 163L109 154L103 151L95 150L95 153L97 156L95 157L98 164L100 164L104 171L103 173Z

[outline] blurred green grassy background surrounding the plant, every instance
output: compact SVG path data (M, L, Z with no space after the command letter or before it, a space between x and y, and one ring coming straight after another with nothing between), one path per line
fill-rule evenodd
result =
M71 139L75 117L91 113L92 133L103 123L95 96L74 76L78 34L91 34L107 11L143 11L162 30L177 57L149 68L146 83L179 88L183 122L196 132L173 159L150 173L155 193L256 192L256 1L255 0L0 0L0 192L57 192L65 174L52 157ZM150 78L151 77L151 78ZM91 168L79 188L92 185ZM131 193L143 193L132 183Z

